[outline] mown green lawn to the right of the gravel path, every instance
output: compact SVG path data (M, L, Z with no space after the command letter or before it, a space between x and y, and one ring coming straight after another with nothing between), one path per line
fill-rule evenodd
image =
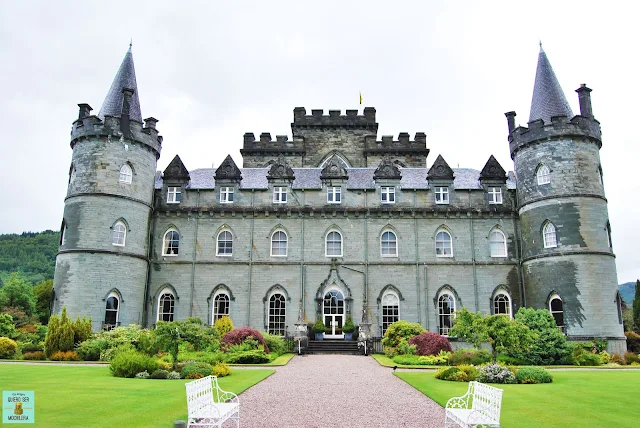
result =
M467 383L438 380L429 372L396 376L444 406L463 395ZM504 389L503 427L637 427L640 371L553 371L553 383L494 385Z

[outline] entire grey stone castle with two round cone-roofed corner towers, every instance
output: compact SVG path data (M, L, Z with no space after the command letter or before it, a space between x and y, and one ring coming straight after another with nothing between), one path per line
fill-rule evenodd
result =
M454 312L545 308L570 340L626 348L591 89L573 115L540 49L528 127L506 113L515 174L427 168L422 132L377 138L376 110L293 110L292 139L244 135L243 168L156 172L131 49L97 116L79 104L54 312L94 329L199 317L291 334L351 315L447 335Z

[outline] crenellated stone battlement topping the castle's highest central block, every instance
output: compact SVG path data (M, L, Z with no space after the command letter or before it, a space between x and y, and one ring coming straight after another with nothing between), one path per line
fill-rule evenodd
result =
M325 115L321 109L311 110L311 115L307 115L304 107L293 109L293 123L291 128L352 128L378 130L376 123L376 109L365 107L362 115L358 115L358 110L346 110L342 115L340 110L329 110ZM294 131L295 134L295 131Z

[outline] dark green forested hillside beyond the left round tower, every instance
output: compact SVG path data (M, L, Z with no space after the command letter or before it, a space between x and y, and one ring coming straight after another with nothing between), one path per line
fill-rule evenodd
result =
M59 243L60 233L52 230L0 235L0 281L11 272L32 284L53 279Z

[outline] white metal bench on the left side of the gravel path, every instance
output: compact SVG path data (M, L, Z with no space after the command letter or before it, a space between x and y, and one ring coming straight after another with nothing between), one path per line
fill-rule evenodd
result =
M240 402L233 392L227 392L218 386L216 376L187 382L187 427L221 427L227 420L235 420L240 426Z

